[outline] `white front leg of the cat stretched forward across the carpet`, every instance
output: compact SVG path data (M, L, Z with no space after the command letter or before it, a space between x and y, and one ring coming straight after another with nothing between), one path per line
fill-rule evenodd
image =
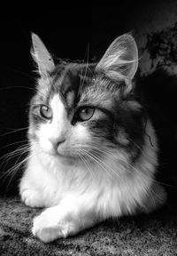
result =
M84 203L84 202L83 202ZM82 229L96 223L96 214L86 204L75 200L53 206L35 217L32 232L42 242L49 243L57 238L73 236ZM83 208L82 208L83 207Z

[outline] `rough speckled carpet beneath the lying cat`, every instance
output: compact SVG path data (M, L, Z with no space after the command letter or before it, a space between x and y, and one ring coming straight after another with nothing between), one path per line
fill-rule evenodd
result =
M0 198L0 255L177 255L176 213L107 220L77 236L43 244L30 231L41 211L19 197Z

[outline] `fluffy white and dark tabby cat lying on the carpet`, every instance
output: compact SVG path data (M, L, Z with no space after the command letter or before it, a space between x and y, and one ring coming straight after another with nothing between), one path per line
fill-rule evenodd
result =
M138 50L117 37L98 63L58 65L32 34L39 79L30 102L21 200L45 207L32 232L42 242L165 202L155 181L158 139L135 95Z

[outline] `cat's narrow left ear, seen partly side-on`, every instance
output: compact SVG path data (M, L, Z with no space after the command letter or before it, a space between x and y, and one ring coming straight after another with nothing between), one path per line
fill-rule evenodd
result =
M31 54L35 60L41 76L48 74L55 68L54 61L39 36L32 33L32 49Z

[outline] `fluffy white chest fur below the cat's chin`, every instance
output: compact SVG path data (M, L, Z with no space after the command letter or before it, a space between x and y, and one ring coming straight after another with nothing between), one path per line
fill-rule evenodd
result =
M151 124L147 124L147 129L154 148L151 149L147 137L144 154L135 165L127 164L127 156L119 153L118 157L116 152L111 158L104 159L104 164L85 165L74 160L59 161L42 152L33 156L32 151L21 188L27 189L26 182L27 186L33 184L44 207L60 204L68 197L82 196L86 200L89 198L90 204L95 204L96 212L101 212L104 217L133 213L137 202L143 204L146 201L146 190L153 185L152 170L157 164L156 140ZM150 207L146 211L149 212Z

